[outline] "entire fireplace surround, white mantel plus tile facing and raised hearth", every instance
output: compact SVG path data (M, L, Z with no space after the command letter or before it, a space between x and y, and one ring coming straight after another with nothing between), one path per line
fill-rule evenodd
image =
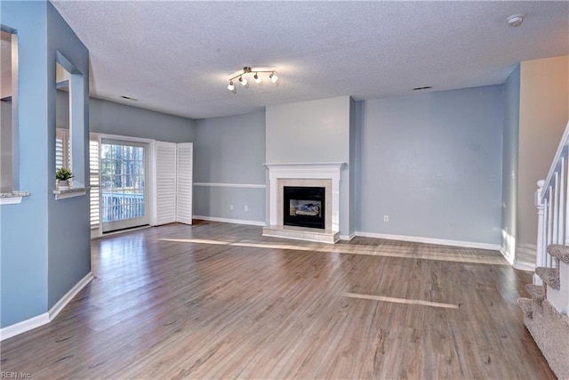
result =
M266 164L269 181L269 225L264 236L335 243L340 239L340 182L342 163ZM325 229L285 226L284 186L325 188Z

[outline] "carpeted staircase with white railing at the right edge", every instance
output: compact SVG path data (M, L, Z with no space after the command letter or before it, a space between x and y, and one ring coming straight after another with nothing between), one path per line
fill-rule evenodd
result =
M536 269L531 298L519 298L524 324L549 367L569 379L569 123L545 181L538 182Z

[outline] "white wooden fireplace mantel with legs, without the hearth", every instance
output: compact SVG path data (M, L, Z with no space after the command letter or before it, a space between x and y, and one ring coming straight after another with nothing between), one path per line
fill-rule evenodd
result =
M332 180L332 230L340 230L340 183L343 162L315 164L265 164L268 168L269 211L271 225L282 225L278 220L278 185L280 179Z

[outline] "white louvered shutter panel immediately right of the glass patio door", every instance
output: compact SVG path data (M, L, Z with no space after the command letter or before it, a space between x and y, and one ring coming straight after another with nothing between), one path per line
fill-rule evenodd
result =
M176 144L156 141L156 222L176 222Z

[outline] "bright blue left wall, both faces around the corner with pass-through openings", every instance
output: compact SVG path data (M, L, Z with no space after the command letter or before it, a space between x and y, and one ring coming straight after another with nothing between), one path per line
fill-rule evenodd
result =
M52 194L56 50L84 74L84 99L89 71L87 49L51 3L0 6L2 24L17 29L19 36L19 190L31 193L19 205L0 206L0 326L6 327L48 311L90 271L88 198L55 202ZM87 116L88 107L84 132ZM55 242L63 246L55 247ZM71 256L62 255L63 250Z

